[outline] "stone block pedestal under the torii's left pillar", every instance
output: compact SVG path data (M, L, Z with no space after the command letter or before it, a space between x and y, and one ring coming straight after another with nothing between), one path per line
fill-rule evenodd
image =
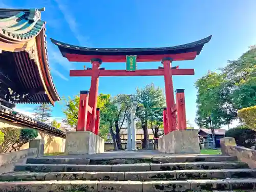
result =
M81 155L104 152L104 140L92 132L67 132L65 154Z

